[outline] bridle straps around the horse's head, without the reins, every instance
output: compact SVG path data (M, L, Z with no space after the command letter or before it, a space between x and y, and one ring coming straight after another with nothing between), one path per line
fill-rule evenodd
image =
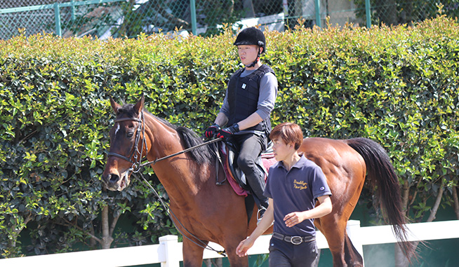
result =
M140 118L117 118L114 120L114 123L119 123L121 121L137 121L137 130L135 132L135 141L134 144L131 148L131 155L129 157L120 155L119 153L114 153L114 152L109 152L107 153L107 156L114 156L117 158L121 158L123 160L126 160L130 163L132 163L131 170L133 172L138 172L140 170L140 167L142 167L142 154L143 154L143 147L145 146L145 156L148 153L148 147L147 147L147 140L145 139L145 120L143 119L143 111L140 112ZM140 141L140 132L142 132L142 144L140 146L140 151L139 151L139 141ZM140 155L140 156L138 156ZM134 160L131 158L134 157Z

